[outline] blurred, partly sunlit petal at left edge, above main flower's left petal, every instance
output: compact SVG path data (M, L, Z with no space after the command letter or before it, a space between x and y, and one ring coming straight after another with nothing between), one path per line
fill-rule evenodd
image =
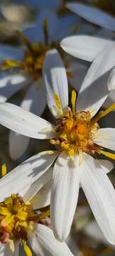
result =
M6 102L13 94L28 84L26 75L9 71L0 74L0 102Z

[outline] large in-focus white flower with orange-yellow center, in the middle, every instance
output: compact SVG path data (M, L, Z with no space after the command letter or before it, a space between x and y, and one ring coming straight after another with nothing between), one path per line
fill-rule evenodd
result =
M115 150L115 129L100 129L97 124L101 117L115 107L111 105L97 114L109 95L106 84L115 63L114 50L113 44L111 48L107 47L97 55L84 78L76 107L76 93L72 92L72 110L67 107L67 75L60 55L57 50L51 50L47 54L43 73L48 106L56 118L55 126L21 107L10 103L0 105L1 124L28 137L50 139L50 143L56 147L55 151L38 154L36 171L34 166L32 168L28 165L25 166L26 171L23 169L23 173L15 171L14 184L16 190L17 184L23 188L33 184L35 180L38 186L39 179L42 179L43 184L46 182L47 173L53 175L51 222L55 238L60 241L65 240L70 233L79 188L82 186L99 227L106 239L115 243L115 191L106 175L111 170L111 163L97 159L97 155L101 154L115 159L114 154L106 151L106 148ZM28 164L28 161L26 163ZM53 169L47 171L53 163ZM24 165L22 166L24 168ZM40 170L38 173L37 168ZM30 172L30 169L33 171ZM9 186L11 187L11 184ZM3 188L6 188L5 178L0 181L0 188L3 194Z

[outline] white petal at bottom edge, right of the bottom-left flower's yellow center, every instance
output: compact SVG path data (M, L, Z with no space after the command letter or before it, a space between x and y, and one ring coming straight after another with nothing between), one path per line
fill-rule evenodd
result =
M42 224L35 225L34 236L28 234L28 242L36 255L72 256L65 242L58 242L53 231Z

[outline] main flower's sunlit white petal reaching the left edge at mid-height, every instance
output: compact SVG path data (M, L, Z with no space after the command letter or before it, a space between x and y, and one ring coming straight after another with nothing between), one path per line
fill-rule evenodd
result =
M50 139L55 134L50 131L53 129L53 124L21 107L6 102L0 104L0 124L14 132L35 139Z

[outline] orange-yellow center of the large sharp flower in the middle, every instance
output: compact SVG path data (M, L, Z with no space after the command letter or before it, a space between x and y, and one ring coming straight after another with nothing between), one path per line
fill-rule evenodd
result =
M99 129L99 125L97 122L92 123L89 111L75 111L76 98L76 92L72 91L72 110L70 107L64 111L61 108L63 112L59 114L55 128L57 137L56 139L51 139L50 143L55 145L57 149L66 151L72 159L75 154L79 154L81 163L82 152L95 154L98 149L98 146L93 142L93 137L97 129ZM54 99L58 110L60 110L59 97L56 95Z

